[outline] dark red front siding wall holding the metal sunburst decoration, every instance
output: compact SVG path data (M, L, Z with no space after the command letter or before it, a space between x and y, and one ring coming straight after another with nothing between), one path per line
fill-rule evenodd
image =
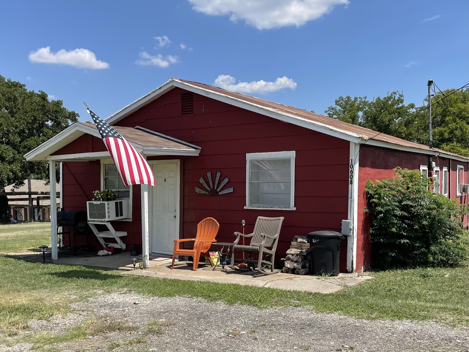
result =
M241 231L246 220L246 232L252 231L257 216L284 216L278 258L285 255L295 235L307 235L317 230L341 230L341 220L347 219L349 143L322 133L242 110L201 95L194 94L194 113L181 114L181 93L174 88L157 100L129 115L117 125L141 126L193 143L202 148L197 157L186 157L182 163L183 201L181 203L181 237L192 237L196 224L205 217L220 223L217 239L232 241L233 233ZM82 137L67 146L67 153L83 148L96 151L92 137ZM102 143L102 142L101 142ZM90 147L91 145L91 147ZM88 149L86 149L88 150ZM295 206L296 211L246 210L246 153L296 151ZM89 150L91 151L91 150ZM61 154L61 151L59 154ZM168 158L168 157L166 157ZM151 159L151 158L150 158ZM157 159L157 158L154 158ZM70 164L69 164L70 165ZM77 165L77 164L75 164ZM91 195L99 188L99 163L77 165L72 174L83 183ZM195 193L199 178L221 172L228 176L228 186L234 192L221 196ZM83 174L82 174L83 173ZM78 175L76 175L78 174ZM76 183L69 175L67 181ZM69 194L74 194L69 199ZM133 219L116 222L116 230L131 231L125 241L141 243L140 187L134 187ZM73 186L64 187L68 207L85 209L83 192ZM78 204L78 205L77 205ZM68 209L67 209L68 210ZM345 263L345 252L342 252ZM342 270L345 269L343 264Z

